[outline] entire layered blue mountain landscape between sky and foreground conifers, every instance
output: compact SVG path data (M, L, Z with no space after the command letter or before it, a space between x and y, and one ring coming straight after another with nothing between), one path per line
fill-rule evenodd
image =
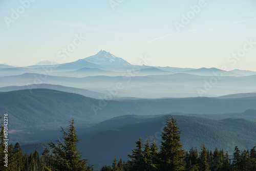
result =
M32 143L26 150L44 149L74 118L79 149L99 169L115 156L126 160L139 137L159 144L166 114L177 117L186 150L256 141L256 72L137 66L102 50L47 62L0 65L0 113L9 113L13 142Z

